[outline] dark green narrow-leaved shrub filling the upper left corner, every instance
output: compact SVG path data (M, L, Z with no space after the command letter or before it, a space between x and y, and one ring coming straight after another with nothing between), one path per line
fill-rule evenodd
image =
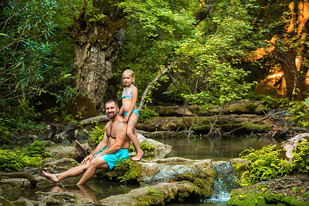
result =
M32 106L38 97L54 95L57 102L74 98L66 86L72 60L67 43L55 38L53 0L7 1L1 12L0 115L12 130L38 130L40 113ZM64 49L62 49L64 48ZM67 54L66 54L67 53ZM72 53L71 53L72 54ZM71 58L72 59L72 58Z

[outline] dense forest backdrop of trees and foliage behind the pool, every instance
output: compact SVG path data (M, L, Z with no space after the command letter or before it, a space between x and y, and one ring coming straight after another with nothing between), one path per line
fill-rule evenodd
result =
M1 1L1 145L83 119L72 112L81 98L103 113L102 102L120 99L125 69L136 73L143 108L288 98L291 120L307 128L304 8L297 0ZM273 68L284 72L286 94L252 95Z

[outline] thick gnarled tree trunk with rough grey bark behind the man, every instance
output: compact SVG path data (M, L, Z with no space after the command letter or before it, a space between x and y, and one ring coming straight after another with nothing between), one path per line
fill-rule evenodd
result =
M112 78L112 65L123 42L127 19L111 1L93 1L93 12L86 15L87 5L71 27L75 39L77 66L75 89L86 95L99 113L104 111L103 98L108 80Z

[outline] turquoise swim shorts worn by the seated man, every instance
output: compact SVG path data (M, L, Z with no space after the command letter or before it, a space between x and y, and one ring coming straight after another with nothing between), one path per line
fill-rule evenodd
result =
M107 148L108 147L101 150L100 152L106 150ZM97 152L97 154L99 154L100 152ZM95 154L95 155L97 155L97 154ZM95 157L95 155L93 155L93 157ZM112 168L114 168L119 162L125 161L125 159L129 158L129 150L120 149L116 153L112 153L112 154L108 154L108 155L101 155L100 157L102 157L108 163L110 170L112 170Z

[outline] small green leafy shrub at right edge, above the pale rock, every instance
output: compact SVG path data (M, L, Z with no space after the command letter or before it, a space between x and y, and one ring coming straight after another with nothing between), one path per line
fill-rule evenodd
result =
M309 98L304 102L293 102L291 113L294 124L307 128L309 126Z

